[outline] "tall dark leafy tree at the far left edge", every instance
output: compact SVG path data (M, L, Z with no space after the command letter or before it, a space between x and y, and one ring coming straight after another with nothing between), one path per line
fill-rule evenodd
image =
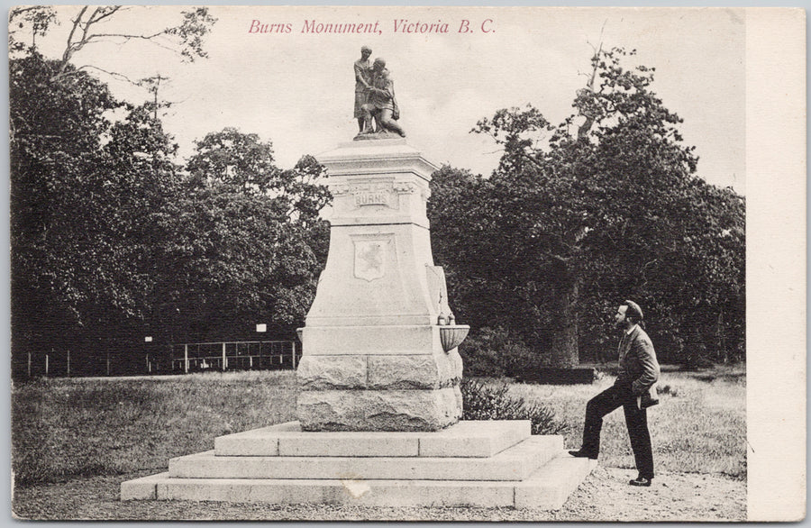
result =
M176 146L148 107L72 67L54 81L58 68L35 53L10 63L14 350L98 349L132 329L177 179Z

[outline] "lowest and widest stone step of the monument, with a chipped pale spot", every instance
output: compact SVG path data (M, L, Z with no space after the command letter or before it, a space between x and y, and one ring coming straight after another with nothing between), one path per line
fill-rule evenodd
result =
M597 466L557 451L523 482L464 480L362 480L170 478L161 473L124 482L122 500L159 499L272 504L376 506L478 506L559 509Z

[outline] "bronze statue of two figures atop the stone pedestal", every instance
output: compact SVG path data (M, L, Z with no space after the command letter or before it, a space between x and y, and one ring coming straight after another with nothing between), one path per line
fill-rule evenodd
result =
M394 132L405 138L397 120L400 110L394 91L394 80L386 68L386 60L378 57L369 63L371 49L363 46L360 59L355 61L355 119L358 138L375 134L387 136Z

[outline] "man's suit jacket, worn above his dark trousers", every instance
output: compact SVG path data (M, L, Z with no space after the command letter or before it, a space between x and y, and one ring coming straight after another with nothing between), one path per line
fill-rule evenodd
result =
M648 334L637 325L629 334L623 332L619 346L619 375L615 385L631 385L633 396L644 393L656 398L654 385L659 380L659 361Z

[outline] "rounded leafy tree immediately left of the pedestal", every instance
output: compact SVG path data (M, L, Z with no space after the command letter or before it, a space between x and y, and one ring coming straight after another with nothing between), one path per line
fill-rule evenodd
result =
M326 256L323 167L304 157L282 170L269 141L226 128L197 141L187 174L163 218L161 313L192 340L244 337L259 322L292 335Z

